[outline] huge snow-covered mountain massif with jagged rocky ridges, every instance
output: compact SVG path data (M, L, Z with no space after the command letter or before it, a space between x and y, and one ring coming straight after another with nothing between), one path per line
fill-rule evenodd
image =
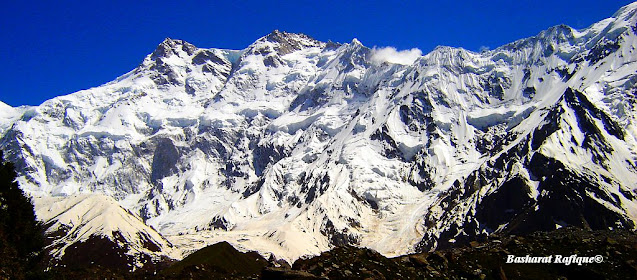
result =
M184 254L228 241L286 260L342 244L394 256L495 232L635 229L636 14L412 63L280 31L243 50L166 39L108 84L0 104L0 146L38 209L84 209L117 223L89 236L134 229L128 242L146 232ZM87 193L111 206L74 207Z

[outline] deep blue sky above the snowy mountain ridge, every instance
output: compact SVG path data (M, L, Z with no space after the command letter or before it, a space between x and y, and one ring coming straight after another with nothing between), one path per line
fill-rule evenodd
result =
M4 1L0 101L37 105L101 85L135 68L166 37L242 49L279 29L423 53L438 45L478 51L561 23L584 28L630 2Z

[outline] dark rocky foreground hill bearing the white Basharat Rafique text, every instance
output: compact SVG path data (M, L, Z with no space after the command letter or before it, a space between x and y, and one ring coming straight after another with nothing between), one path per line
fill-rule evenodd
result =
M553 263L507 263L517 257L553 256ZM563 256L555 263L556 255ZM564 263L572 255L601 262ZM629 231L563 228L525 236L492 236L470 246L386 258L369 249L337 247L292 267L227 243L199 250L167 268L134 273L92 267L64 271L52 279L637 279L637 235Z

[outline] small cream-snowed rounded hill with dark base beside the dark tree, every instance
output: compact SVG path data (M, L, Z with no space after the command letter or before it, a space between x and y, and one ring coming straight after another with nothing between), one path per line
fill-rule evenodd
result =
M111 197L34 197L33 202L50 243L45 248L51 256L50 267L101 265L135 270L179 258L170 242Z

